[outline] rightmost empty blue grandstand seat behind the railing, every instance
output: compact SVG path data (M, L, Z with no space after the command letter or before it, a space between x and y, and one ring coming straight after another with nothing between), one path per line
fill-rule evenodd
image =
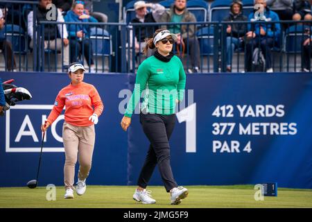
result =
M305 38L309 37L305 33L306 28L309 26L297 25L290 26L285 31L284 36L284 51L286 53L300 53L302 51L302 42Z

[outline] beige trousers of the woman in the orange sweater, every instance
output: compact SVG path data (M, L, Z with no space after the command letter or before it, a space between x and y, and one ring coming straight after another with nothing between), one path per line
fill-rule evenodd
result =
M75 165L79 153L78 178L85 180L89 176L94 150L95 131L92 126L73 126L66 121L63 125L63 143L65 149L64 185L73 189Z

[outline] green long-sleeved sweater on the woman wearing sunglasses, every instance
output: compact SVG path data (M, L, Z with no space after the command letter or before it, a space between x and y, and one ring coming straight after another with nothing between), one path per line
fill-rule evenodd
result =
M126 117L131 117L144 92L141 110L157 114L174 114L175 100L182 101L186 76L177 56L170 62L162 62L150 56L139 65L135 89L129 100ZM144 90L146 89L146 90Z

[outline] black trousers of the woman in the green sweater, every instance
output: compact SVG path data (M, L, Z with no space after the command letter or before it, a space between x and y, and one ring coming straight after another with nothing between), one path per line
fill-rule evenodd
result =
M147 187L157 164L164 187L169 192L174 187L177 187L177 182L175 182L171 170L170 146L168 143L175 126L175 114L144 114L141 112L140 123L146 137L150 141L150 148L148 149L137 185L144 189Z

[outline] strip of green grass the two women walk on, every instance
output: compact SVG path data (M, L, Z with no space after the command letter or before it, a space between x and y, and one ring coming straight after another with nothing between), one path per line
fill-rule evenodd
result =
M135 187L130 186L88 186L85 195L75 194L74 199L63 198L64 188L57 187L56 200L46 200L45 187L0 188L0 207L312 207L311 189L278 189L277 197L265 196L263 201L254 200L252 185L235 186L187 186L189 196L181 205L170 205L169 194L164 187L150 186L155 205L143 205L132 200Z

